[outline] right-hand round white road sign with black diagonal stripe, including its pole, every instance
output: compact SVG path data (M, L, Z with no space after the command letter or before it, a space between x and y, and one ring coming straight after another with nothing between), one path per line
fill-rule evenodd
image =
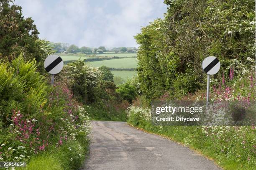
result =
M207 74L206 107L208 107L210 94L210 75L218 73L220 70L220 61L214 56L206 57L202 62L202 69Z

